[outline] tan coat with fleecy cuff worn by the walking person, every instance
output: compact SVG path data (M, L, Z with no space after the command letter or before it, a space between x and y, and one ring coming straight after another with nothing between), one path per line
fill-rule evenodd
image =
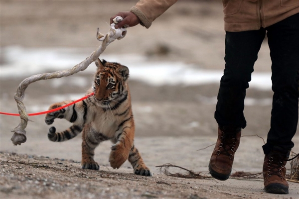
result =
M130 11L149 28L176 1L140 0ZM224 29L229 32L258 30L299 13L299 0L222 0L222 3Z

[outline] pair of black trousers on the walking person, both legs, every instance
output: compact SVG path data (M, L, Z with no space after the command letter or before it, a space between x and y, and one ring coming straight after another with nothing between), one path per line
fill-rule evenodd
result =
M267 28L226 32L225 69L220 81L215 119L220 126L246 127L246 89L267 33L272 60L271 128L264 153L294 147L299 102L299 13Z

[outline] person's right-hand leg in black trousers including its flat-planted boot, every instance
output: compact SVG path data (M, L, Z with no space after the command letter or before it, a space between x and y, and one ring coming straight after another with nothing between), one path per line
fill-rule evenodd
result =
M263 146L264 184L268 193L288 194L286 171L279 172L279 169L286 165L284 160L288 159L294 146L292 138L298 124L299 13L266 29L271 51L274 95L271 128L267 143ZM270 162L270 159L273 160Z

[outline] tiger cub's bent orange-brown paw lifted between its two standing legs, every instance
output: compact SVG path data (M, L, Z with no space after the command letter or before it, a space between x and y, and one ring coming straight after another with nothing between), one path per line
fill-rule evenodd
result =
M110 166L113 169L119 169L128 159L129 151L127 152L127 150L120 145L113 145L111 150L109 156Z

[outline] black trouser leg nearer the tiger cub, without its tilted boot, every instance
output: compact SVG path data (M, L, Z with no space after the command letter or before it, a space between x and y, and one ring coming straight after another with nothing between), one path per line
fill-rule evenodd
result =
M266 30L226 32L225 69L220 81L215 119L220 126L245 128L246 89Z

